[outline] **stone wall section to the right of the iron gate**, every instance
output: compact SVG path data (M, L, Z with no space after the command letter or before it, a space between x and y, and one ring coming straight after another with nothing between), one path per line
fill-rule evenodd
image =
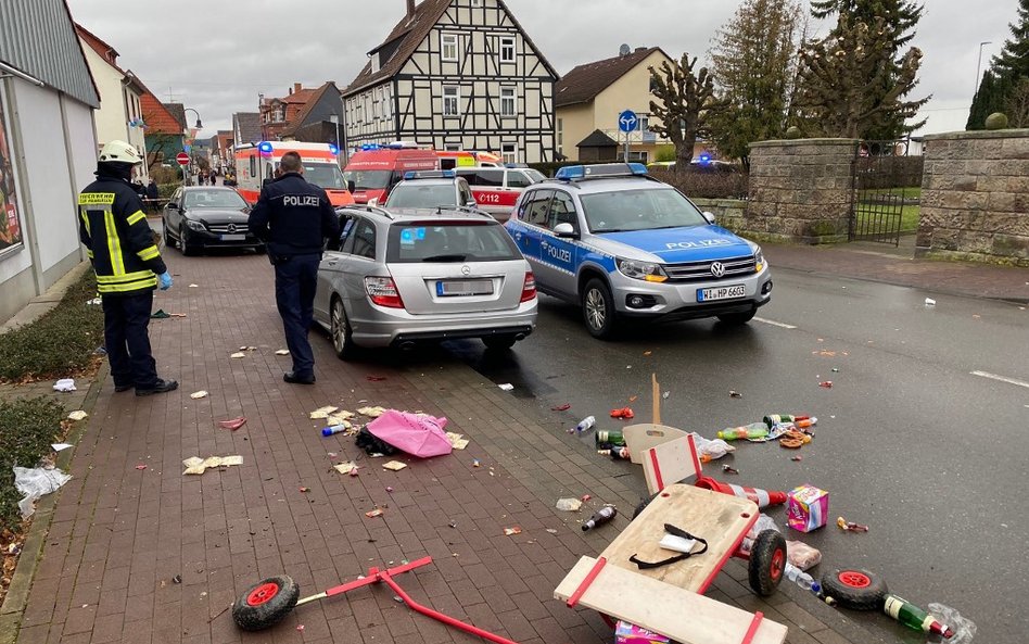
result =
M926 137L915 256L1029 266L1029 129Z

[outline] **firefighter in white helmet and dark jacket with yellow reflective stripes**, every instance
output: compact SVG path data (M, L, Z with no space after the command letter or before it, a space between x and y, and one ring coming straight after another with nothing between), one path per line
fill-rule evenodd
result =
M157 377L150 351L154 289L172 288L154 244L143 203L132 187L132 168L142 163L136 148L111 141L100 151L97 180L78 195L79 238L97 274L103 303L103 334L115 391L151 395L177 389Z

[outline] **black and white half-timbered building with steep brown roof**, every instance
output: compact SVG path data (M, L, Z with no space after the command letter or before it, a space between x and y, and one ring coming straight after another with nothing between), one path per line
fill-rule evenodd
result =
M343 91L346 142L551 161L557 73L503 0L407 0Z

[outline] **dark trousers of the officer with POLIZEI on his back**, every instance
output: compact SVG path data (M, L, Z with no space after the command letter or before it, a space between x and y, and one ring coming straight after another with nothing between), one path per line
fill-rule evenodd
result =
M292 255L275 265L275 301L285 330L285 345L293 357L293 374L301 378L315 375L315 354L307 331L314 319L320 260L320 255Z

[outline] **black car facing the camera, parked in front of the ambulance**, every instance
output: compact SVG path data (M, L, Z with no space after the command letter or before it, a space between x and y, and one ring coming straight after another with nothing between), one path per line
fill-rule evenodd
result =
M264 243L246 225L250 205L225 186L185 186L172 194L161 214L165 243L178 247L183 255L213 248L252 248Z

